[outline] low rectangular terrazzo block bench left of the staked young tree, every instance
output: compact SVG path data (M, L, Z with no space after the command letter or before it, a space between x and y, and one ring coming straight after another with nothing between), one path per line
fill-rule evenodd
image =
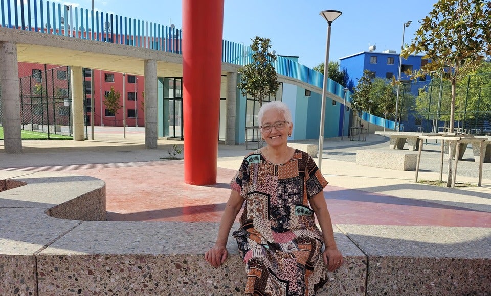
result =
M356 164L396 170L416 170L417 152L391 149L356 150Z

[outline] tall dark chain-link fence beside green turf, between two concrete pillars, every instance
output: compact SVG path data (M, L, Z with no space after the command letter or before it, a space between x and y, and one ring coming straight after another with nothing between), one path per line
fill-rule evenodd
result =
M19 63L23 139L73 139L69 72L66 66L48 69L47 65Z

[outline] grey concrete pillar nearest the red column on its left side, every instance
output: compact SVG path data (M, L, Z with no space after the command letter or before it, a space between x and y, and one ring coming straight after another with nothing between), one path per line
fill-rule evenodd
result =
M158 138L158 95L157 61L145 60L145 147L157 148Z

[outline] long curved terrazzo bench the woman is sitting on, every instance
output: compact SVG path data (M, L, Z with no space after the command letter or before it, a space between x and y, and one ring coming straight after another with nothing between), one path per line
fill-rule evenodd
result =
M105 217L99 179L0 170L0 180L0 295L243 293L245 268L233 238L220 268L203 260L218 223L98 221ZM337 225L334 231L345 264L327 274L319 295L491 291L491 228Z

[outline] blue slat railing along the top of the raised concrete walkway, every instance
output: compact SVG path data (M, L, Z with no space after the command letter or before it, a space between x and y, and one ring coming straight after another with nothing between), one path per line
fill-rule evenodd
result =
M162 26L99 11L94 13L92 10L62 6L59 3L56 5L54 2L43 0L27 0L27 2L0 0L0 6L2 27L182 54L182 30L175 29L173 26ZM34 19L34 27L32 19ZM222 61L246 65L252 61L251 47L224 40ZM274 67L280 75L322 88L321 73L293 60L278 56ZM343 87L330 79L327 90L342 98L344 96ZM347 96L347 101L351 102L351 95Z

